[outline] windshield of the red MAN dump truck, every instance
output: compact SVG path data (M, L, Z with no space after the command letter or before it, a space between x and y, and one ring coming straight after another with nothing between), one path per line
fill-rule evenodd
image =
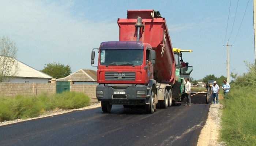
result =
M143 49L100 50L101 65L142 65Z

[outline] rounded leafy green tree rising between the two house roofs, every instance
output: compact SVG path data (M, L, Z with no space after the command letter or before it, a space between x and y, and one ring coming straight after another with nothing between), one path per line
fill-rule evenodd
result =
M60 64L59 62L53 62L52 64L45 64L43 73L49 74L52 78L63 78L67 77L71 73L71 68L69 65Z

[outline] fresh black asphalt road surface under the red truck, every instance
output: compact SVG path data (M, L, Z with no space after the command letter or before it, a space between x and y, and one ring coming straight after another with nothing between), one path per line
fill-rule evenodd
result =
M0 126L0 146L195 146L209 107L74 111Z

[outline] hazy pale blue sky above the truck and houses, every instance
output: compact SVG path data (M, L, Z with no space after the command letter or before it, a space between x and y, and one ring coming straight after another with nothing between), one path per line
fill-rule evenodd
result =
M72 72L97 70L92 49L118 41L117 19L128 9L161 13L172 46L193 50L183 60L196 80L227 76L227 40L230 73L242 75L244 61L255 63L253 0L1 0L0 7L0 37L10 37L17 59L37 70L53 62Z

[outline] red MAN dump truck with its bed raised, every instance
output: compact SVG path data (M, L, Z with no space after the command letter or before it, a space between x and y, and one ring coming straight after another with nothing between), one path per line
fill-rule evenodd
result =
M145 105L146 112L180 102L183 84L176 77L171 39L158 11L128 10L117 20L119 41L102 42L98 56L96 97L103 112L112 105ZM95 51L91 54L94 64ZM178 73L179 74L179 73ZM176 89L174 90L174 86ZM174 92L174 93L173 93Z

